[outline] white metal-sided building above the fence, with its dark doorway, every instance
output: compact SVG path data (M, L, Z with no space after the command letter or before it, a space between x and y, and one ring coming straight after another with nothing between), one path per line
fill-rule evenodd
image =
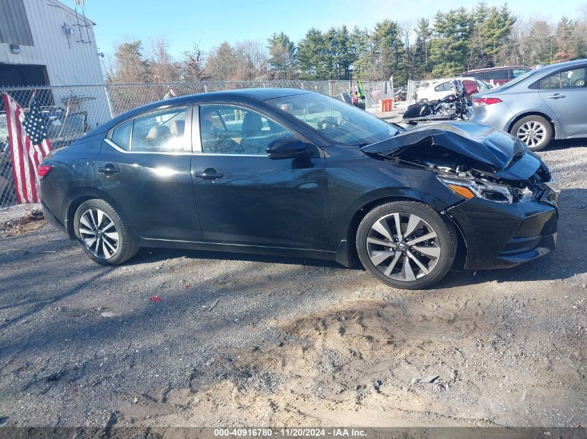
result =
M0 0L0 87L103 84L95 23L77 12L57 0Z

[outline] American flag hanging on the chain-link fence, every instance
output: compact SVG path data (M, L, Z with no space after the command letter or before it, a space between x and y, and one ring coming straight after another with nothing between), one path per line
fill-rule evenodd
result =
M8 121L17 203L39 203L37 168L51 151L41 108L35 94L28 105L28 112L24 112L8 94L4 93L2 97Z

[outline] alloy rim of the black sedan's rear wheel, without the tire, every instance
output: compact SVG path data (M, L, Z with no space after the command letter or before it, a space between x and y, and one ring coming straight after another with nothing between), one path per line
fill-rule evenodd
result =
M100 209L88 209L79 218L79 236L85 248L99 259L113 257L119 235L112 218Z

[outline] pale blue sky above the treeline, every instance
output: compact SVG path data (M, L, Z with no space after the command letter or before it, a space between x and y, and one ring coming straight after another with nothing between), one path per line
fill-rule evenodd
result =
M62 0L71 6L71 0ZM503 0L486 0L500 6ZM197 42L209 51L223 41L266 40L274 32L285 32L295 42L308 28L326 30L346 24L372 28L390 18L415 24L436 10L476 4L463 0L85 0L100 51L113 53L126 39L148 41L165 36L172 55L178 56ZM587 0L511 0L516 15L557 20L577 17Z

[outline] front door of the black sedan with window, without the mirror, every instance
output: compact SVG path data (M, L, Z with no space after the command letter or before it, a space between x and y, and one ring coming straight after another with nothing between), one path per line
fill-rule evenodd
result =
M199 105L194 122L192 174L202 241L326 249L328 191L317 146L302 139L306 157L267 157L272 141L295 132L242 105Z

